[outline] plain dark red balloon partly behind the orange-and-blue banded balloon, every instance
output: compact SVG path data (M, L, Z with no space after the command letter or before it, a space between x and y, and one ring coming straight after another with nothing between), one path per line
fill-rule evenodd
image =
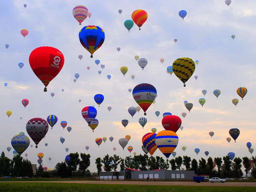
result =
M181 118L176 115L165 116L162 118L162 127L165 128L165 130L177 132L177 130L181 127Z

